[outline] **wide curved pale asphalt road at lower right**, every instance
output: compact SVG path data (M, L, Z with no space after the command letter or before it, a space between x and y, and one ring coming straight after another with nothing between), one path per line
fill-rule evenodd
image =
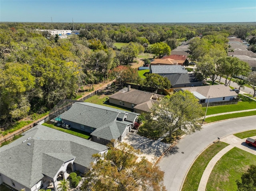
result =
M202 126L202 130L184 136L158 163L164 171L168 191L180 191L186 173L196 157L212 142L224 136L256 129L256 116L224 120Z

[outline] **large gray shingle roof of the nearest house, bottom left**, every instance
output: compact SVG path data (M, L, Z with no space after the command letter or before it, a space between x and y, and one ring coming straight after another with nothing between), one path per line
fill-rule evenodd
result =
M42 125L23 135L0 148L0 173L28 188L44 177L43 172L52 175L58 168L56 165L68 158L76 157L75 163L90 167L91 155L107 149L104 145Z

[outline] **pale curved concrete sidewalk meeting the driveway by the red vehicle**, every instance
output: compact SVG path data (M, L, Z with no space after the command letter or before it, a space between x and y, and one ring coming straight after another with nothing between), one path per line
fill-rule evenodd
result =
M256 136L254 136L252 138L256 139ZM230 145L225 147L224 149L222 149L220 152L218 152L214 156L214 158L212 158L210 160L210 162L208 163L208 165L207 165L206 169L204 170L204 173L201 177L201 181L200 181L199 186L198 186L198 191L205 191L208 179L210 177L212 169L214 168L214 165L218 162L218 160L220 158L222 158L222 156L224 154L226 154L232 148L237 147L237 148L240 148L242 150L245 150L246 152L250 152L251 154L256 155L256 148L249 147L247 144L244 143L246 138L240 139L240 138L238 138L234 135L229 135L229 136L226 136L224 138L221 138L220 140L222 142L228 143Z

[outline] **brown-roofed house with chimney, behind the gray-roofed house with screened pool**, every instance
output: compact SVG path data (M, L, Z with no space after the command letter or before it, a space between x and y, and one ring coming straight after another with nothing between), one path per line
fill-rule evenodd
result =
M136 113L146 113L150 112L152 105L163 97L163 95L131 89L128 86L109 96L109 102L134 109Z

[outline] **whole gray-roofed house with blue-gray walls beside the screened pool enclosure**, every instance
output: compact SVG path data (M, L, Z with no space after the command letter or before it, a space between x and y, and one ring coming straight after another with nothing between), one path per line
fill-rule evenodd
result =
M138 115L98 104L76 102L59 118L70 128L90 133L92 141L106 145L112 139L122 141Z

